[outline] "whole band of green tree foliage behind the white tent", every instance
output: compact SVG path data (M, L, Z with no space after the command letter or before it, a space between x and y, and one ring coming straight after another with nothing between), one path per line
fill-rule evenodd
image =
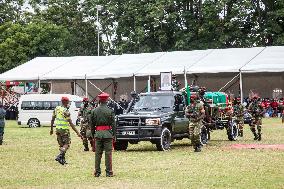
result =
M36 56L284 44L278 0L2 0L1 72ZM97 23L96 5L103 5Z

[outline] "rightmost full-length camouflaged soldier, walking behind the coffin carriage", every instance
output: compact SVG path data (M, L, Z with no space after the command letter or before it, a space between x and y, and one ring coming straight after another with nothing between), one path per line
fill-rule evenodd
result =
M248 107L249 112L252 114L253 120L250 123L250 130L254 135L254 140L261 140L261 124L262 116L264 114L264 108L261 106L258 96L254 96L252 102ZM255 126L257 127L258 133L256 133Z

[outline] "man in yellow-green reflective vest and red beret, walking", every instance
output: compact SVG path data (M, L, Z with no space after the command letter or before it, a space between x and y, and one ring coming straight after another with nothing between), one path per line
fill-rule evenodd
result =
M59 144L59 155L55 158L61 165L66 164L65 153L67 152L70 143L70 131L69 126L77 133L78 137L81 137L79 131L75 128L75 125L72 123L69 112L69 99L68 97L61 98L62 105L57 106L53 111L51 126L50 126L50 135L53 134L53 125L55 122L56 126L56 136L57 142Z

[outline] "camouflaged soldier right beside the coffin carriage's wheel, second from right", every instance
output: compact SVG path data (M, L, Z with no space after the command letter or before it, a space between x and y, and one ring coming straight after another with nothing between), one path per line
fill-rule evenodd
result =
M239 136L243 137L243 127L244 127L244 110L245 107L241 104L241 99L236 98L234 101L234 116L236 116L236 121L239 127Z

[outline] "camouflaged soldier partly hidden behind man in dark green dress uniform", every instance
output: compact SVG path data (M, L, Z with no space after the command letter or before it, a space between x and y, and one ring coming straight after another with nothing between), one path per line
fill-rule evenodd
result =
M90 145L92 146L92 132L90 127L90 116L93 107L89 103L88 98L83 99L83 106L80 108L78 116L81 117L81 124L80 124L80 134L82 135L84 151L89 151L88 140L90 141Z

